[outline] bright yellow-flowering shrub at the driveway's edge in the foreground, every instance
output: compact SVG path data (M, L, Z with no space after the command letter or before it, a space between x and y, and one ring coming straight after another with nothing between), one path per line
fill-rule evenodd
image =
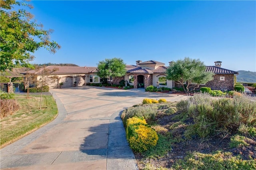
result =
M132 117L126 123L126 137L132 150L144 152L154 146L158 141L158 135L154 129L148 127L145 119Z

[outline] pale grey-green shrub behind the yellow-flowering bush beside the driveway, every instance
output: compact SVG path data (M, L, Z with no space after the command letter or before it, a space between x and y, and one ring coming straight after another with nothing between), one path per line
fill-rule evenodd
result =
M153 121L156 117L156 109L152 107L130 107L123 111L121 118L123 119L123 123L126 126L127 119L131 117L144 117L147 122Z

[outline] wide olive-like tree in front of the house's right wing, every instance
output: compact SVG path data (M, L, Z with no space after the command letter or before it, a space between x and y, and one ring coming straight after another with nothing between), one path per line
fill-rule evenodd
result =
M169 68L166 70L166 78L180 84L185 92L190 92L198 88L200 84L213 80L214 73L206 72L205 69L204 62L186 57L184 60L170 63Z

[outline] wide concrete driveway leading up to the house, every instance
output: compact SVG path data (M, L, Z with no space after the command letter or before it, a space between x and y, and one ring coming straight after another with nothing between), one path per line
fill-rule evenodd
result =
M58 117L0 150L1 169L138 169L120 118L144 98L177 101L186 96L81 86L51 90Z

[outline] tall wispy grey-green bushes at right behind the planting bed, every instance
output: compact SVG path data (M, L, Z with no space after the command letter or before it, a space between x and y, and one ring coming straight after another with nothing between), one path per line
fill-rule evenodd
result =
M238 131L241 123L252 127L256 123L256 101L246 96L214 100L208 94L198 94L177 104L194 119L200 137L214 135L220 129Z

